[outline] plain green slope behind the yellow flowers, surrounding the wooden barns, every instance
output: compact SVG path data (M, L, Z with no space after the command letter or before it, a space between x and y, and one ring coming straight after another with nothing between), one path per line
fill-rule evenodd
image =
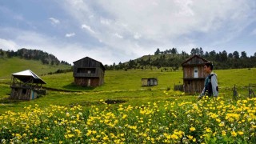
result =
M234 84L238 86L238 92L244 96L248 94L249 83L256 83L256 69L239 70L216 70L220 86L220 96L230 97ZM158 86L142 87L141 78L158 78ZM171 89L174 83L182 83L182 71L161 72L160 70L128 70L128 71L106 71L105 84L94 89L75 87L71 83L74 81L72 73L52 74L41 77L47 82L47 87L62 90L79 90L82 92L58 92L50 91L46 96L29 102L10 102L0 100L0 114L6 110L20 111L22 107L33 104L39 106L62 105L70 106L80 104L82 106L100 105L100 99L122 99L127 102L125 105L138 106L146 102L155 102L159 100L180 99L181 101L195 101L196 97L180 96L181 92L169 91L164 94L167 87ZM10 88L7 84L0 81L0 98L8 97Z

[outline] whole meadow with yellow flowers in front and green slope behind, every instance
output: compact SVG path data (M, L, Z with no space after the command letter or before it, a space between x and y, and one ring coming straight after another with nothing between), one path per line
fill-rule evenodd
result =
M73 85L73 74L40 76L46 96L10 101L10 78L0 79L2 143L255 143L256 69L215 70L219 97L174 91L182 70L106 70L96 88ZM1 74L0 74L1 78ZM141 78L158 78L142 86ZM238 88L238 101L232 88ZM254 88L256 92L256 88ZM111 103L111 104L107 104Z

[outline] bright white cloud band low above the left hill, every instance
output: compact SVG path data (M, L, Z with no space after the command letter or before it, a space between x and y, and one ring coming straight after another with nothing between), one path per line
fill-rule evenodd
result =
M2 33L13 33L14 31L16 32L14 40L0 38L0 48L2 50L18 50L21 48L43 50L49 54L54 54L59 60L71 64L86 56L94 58L104 65L120 61L118 57L114 56L116 52L108 50L109 48L106 46L86 46L84 43L66 42L34 31L11 28L0 30Z

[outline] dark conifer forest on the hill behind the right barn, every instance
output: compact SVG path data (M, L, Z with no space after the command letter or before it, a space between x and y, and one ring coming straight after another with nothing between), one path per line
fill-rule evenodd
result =
M178 70L182 62L190 58L194 54L213 62L214 69L238 69L238 68L251 68L256 67L256 52L253 56L247 56L246 51L239 54L238 51L227 53L226 50L216 52L204 52L202 47L192 48L190 54L185 51L178 53L177 48L161 51L159 48L154 52L154 55L145 55L142 58L130 60L129 62L119 62L110 66L105 66L106 70L129 70L129 69L152 69L157 67L168 67L170 70Z

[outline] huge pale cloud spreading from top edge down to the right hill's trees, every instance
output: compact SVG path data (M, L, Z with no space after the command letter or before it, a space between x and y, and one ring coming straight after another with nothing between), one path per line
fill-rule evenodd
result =
M255 21L255 2L250 0L66 2L66 11L82 29L94 34L108 50L130 59L152 54L158 47L190 52L191 46L202 46L203 39L207 40L206 46L221 46Z

